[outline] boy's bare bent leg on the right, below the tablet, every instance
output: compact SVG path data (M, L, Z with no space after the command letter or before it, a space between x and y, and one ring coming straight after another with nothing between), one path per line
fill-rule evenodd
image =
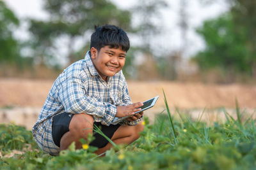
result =
M116 144L125 144L129 145L132 142L136 141L136 139L140 138L140 132L142 132L144 129L144 126L141 124L135 125L135 126L120 126L115 133L113 134L113 137L111 140ZM110 148L112 148L113 145L111 143L108 143L108 145L104 146L103 148L99 148L95 153L98 155L101 153L106 152Z

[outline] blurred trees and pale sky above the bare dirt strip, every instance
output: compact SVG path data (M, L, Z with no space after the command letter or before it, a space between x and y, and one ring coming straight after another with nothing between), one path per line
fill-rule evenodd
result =
M256 77L253 0L0 1L1 77L56 78L89 50L94 25L131 39L132 80L249 82ZM145 76L147 75L147 76Z

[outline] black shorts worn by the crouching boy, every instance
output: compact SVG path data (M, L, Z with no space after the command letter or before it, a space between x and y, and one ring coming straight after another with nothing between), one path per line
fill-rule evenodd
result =
M52 118L52 139L55 145L60 147L60 139L63 134L69 131L68 127L70 121L74 115L71 113L61 113L59 115L55 115ZM109 139L112 138L115 131L120 127L120 125L102 125L100 122L94 122L100 130L108 136ZM90 146L95 146L97 148L102 148L108 144L108 140L94 131L93 127L93 136L95 139L90 143Z

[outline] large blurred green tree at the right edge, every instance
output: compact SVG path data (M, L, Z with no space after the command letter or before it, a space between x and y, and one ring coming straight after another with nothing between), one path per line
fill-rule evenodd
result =
M197 29L206 48L194 60L203 71L219 68L233 80L236 74L256 77L256 1L227 2L230 11Z

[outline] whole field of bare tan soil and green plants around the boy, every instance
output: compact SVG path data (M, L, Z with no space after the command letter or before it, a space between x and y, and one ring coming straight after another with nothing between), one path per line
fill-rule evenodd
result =
M0 169L256 169L253 86L168 82L146 86L130 81L134 101L160 96L156 108L145 115L140 139L115 146L106 157L97 157L92 146L74 150L74 145L52 157L36 146L28 130L51 83L0 80L0 120L8 123L9 115L16 117L0 124ZM142 90L144 96L139 94ZM24 107L20 114L26 116L22 119L28 120L26 125L31 123L27 128L19 122L18 112Z

